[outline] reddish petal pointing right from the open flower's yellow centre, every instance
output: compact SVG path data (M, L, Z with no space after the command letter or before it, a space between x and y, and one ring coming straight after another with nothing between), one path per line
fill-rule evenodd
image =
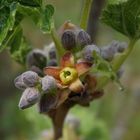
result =
M89 62L79 62L75 65L79 76L86 73L87 71L89 71L91 66L92 66L92 64Z

